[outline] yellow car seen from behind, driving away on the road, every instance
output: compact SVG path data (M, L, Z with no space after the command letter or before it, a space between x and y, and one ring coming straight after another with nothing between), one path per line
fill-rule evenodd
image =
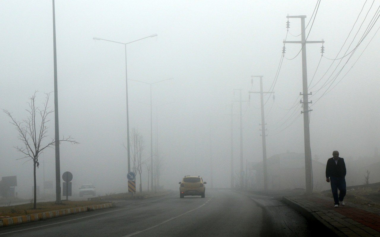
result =
M182 178L182 182L179 182L179 184L180 198L184 198L185 196L204 197L206 191L206 187L204 185L206 182L203 182L202 177L186 175Z

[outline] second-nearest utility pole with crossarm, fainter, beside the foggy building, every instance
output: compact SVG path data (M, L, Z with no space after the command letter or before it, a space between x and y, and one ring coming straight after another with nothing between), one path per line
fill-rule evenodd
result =
M261 138L263 141L263 175L264 175L264 190L268 190L268 169L266 165L266 134L265 134L265 119L264 119L264 96L263 94L270 94L274 92L263 92L263 76L251 76L252 84L254 77L260 77L260 92L252 92L249 93L260 93L260 102L261 102Z

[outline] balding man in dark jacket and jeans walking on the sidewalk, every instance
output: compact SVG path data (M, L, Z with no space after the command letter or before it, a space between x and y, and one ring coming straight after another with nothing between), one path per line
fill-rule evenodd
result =
M338 151L332 152L332 157L327 160L326 182L330 182L332 196L334 197L334 207L339 204L344 206L344 196L346 196L346 164L344 159L339 157ZM339 189L339 197L338 197Z

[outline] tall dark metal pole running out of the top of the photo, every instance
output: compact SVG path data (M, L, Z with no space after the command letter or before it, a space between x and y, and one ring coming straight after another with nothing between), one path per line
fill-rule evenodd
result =
M55 10L53 0L53 51L54 51L54 123L55 123L55 204L61 204L61 173L59 161L57 46L55 43Z

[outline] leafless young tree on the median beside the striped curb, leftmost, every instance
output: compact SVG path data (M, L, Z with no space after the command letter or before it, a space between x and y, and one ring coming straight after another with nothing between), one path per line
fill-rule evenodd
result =
M22 141L22 146L15 146L17 151L20 151L24 154L24 158L30 158L29 160L33 161L33 180L34 180L34 203L33 203L33 209L36 209L37 203L37 194L36 194L36 167L40 165L38 163L38 156L40 156L41 152L45 148L52 148L56 142L71 142L72 144L77 144L74 140L74 138L71 138L70 136L68 138L63 137L62 140L56 140L56 138L51 138L50 142L45 143L45 139L48 137L47 131L48 126L47 123L50 121L48 119L48 116L54 112L54 110L51 110L48 107L49 103L49 95L50 93L45 93L46 98L45 102L43 103L43 107L40 108L36 105L36 93L34 92L33 96L29 98L28 102L28 109L26 111L28 112L28 116L26 119L23 119L21 122L16 121L16 119L13 117L12 113L8 110L3 110L4 113L6 113L9 118L11 118L11 124L13 124L16 127L16 130L18 132L18 138ZM59 138L58 138L59 139ZM29 161L28 160L28 161Z

